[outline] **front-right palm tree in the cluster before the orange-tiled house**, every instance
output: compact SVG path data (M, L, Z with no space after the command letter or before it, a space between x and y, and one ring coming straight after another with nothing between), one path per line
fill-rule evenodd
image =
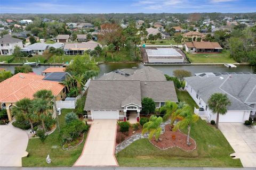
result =
M33 100L33 111L34 111L34 117L37 120L42 121L43 130L45 129L45 121L47 118L51 117L51 113L49 112L52 109L52 104L42 98L36 98Z

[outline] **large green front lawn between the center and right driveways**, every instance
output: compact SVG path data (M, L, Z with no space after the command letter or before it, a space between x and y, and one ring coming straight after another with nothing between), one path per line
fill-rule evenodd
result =
M178 92L180 101L191 107L196 105L186 91ZM186 130L184 131L186 133ZM220 130L207 124L201 118L191 126L191 137L197 148L186 152L179 148L160 150L148 139L140 139L116 154L120 166L174 166L174 167L242 167L239 159L232 159L234 153Z

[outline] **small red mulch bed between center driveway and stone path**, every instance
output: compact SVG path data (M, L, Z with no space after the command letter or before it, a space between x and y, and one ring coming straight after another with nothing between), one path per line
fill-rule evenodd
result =
M131 137L134 134L141 133L142 126L139 125L139 129L134 131L132 127L129 128L128 132L120 132L120 127L117 125L117 133L116 133L116 146L126 140L127 138ZM134 133L132 133L134 132Z

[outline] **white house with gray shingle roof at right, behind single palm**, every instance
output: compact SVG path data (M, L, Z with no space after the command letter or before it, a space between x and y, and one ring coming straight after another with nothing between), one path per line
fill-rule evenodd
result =
M227 113L220 115L219 122L240 122L255 115L256 111L256 74L225 74L212 77L194 76L185 78L189 95L201 108L195 113L206 119L216 121L217 114L213 114L207 106L207 101L214 93L227 94L231 105Z

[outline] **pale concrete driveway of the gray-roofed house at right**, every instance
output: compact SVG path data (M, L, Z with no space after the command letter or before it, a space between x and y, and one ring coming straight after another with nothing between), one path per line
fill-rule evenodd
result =
M244 167L256 167L256 127L247 127L243 123L219 123L219 129L225 135L236 158L240 158Z

